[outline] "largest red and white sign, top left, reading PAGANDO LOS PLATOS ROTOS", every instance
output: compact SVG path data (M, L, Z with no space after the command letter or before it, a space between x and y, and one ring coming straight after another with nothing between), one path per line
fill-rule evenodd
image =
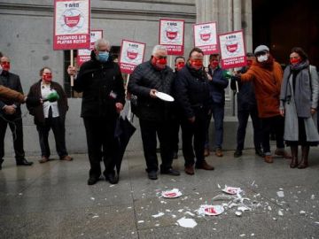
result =
M89 49L89 0L55 0L53 50Z

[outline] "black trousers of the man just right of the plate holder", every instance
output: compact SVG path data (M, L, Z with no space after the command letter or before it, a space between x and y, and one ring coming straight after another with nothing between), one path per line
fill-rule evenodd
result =
M188 119L182 120L183 158L185 166L195 163L200 165L204 160L204 148L206 142L206 122L208 110L198 108L195 111L195 122ZM195 150L195 154L194 154Z

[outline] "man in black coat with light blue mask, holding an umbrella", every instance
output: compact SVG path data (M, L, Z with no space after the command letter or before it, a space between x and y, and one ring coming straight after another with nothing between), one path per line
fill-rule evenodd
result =
M119 181L114 171L119 150L114 129L125 104L125 96L120 67L110 57L110 49L110 42L97 40L91 59L83 63L74 81L74 89L83 92L81 116L88 143L89 185L95 184L101 175L102 158L106 181L113 184ZM74 67L69 66L67 72L74 75Z

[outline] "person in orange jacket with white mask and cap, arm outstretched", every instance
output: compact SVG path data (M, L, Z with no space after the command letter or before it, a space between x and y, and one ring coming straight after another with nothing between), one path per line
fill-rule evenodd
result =
M284 158L291 156L284 150L284 118L279 112L279 95L283 80L283 69L270 55L265 45L254 50L256 60L246 73L237 74L240 81L253 81L259 117L262 124L262 147L265 152L265 161L272 163L270 152L270 128L275 129L275 154Z

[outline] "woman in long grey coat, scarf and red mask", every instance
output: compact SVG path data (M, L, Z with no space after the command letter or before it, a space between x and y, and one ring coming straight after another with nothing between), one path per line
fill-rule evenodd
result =
M316 128L318 104L318 74L310 66L307 54L299 47L292 49L290 65L284 69L280 94L280 113L284 116L284 140L292 150L292 168L308 166L309 147L316 146L319 135ZM298 146L301 161L298 162Z

